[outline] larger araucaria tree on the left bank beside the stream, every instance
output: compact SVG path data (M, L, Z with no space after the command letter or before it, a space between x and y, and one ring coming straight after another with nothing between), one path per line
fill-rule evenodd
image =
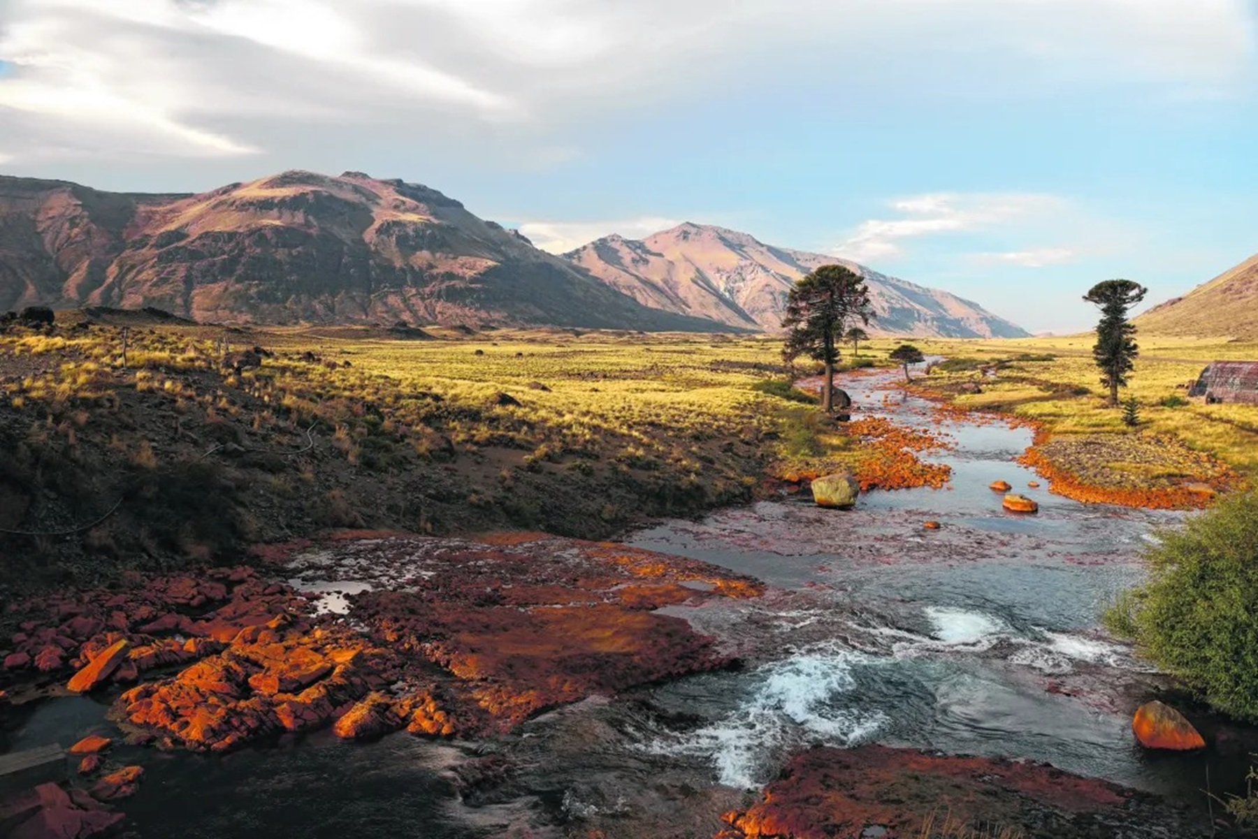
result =
M873 309L864 279L843 265L818 267L801 277L786 297L782 356L793 361L806 355L825 365L821 409L827 413L834 410L834 365L844 330L855 321L868 325L871 317Z

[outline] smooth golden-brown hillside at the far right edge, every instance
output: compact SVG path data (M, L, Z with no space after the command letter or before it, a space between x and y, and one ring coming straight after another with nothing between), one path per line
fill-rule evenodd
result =
M1258 254L1135 318L1156 335L1258 340Z

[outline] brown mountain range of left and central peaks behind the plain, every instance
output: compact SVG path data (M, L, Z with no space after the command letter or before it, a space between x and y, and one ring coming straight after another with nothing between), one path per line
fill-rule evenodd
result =
M287 171L195 195L0 176L0 311L772 331L791 283L827 263L866 277L871 332L1027 335L947 292L716 226L613 235L559 257L434 189L362 172Z

